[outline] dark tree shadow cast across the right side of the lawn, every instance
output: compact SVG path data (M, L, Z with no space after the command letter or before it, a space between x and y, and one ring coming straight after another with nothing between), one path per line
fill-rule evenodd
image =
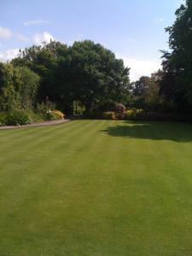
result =
M183 123L123 121L102 132L112 137L192 142L192 125Z

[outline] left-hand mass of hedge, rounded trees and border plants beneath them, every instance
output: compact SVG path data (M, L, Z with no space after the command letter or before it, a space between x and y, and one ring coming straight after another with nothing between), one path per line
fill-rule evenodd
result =
M0 125L60 118L55 109L73 114L74 102L87 113L102 112L128 102L130 89L129 68L101 44L33 45L0 64Z

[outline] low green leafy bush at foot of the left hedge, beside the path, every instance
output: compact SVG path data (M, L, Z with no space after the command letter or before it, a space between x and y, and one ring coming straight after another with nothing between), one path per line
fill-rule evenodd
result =
M23 110L14 110L7 114L5 125L27 125L32 123L32 119Z

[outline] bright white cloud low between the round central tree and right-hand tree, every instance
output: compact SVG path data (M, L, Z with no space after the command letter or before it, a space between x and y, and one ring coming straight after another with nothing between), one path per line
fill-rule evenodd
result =
M150 76L160 68L160 61L138 60L124 55L117 55L117 58L123 59L125 67L131 67L131 81L136 81L141 76Z

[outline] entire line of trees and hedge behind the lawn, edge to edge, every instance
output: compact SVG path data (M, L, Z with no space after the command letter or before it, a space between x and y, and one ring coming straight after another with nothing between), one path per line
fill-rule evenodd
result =
M72 46L54 41L20 50L10 63L0 64L0 112L31 111L44 119L54 109L73 114L78 102L86 113L102 113L122 103L143 109L142 113L190 114L192 0L177 9L166 32L171 51L162 51L162 69L135 83L122 60L89 40Z

